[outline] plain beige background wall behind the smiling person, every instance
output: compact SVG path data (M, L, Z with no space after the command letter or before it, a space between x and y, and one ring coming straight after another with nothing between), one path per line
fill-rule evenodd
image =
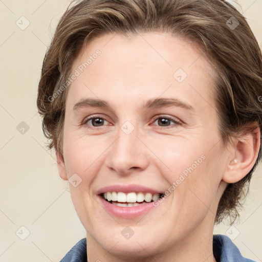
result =
M261 47L262 0L239 3ZM36 114L42 60L68 4L66 0L0 1L0 261L59 261L85 237L67 182L58 176L54 154L45 149ZM24 134L17 126L25 128ZM242 220L233 228L221 225L214 230L235 238L243 255L256 261L262 261L261 173L260 165Z

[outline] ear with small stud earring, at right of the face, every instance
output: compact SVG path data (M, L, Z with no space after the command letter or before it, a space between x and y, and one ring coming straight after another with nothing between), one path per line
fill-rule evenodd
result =
M228 159L222 180L227 183L236 183L244 178L254 166L259 148L259 127L250 128L247 133L239 136L230 149L232 154Z

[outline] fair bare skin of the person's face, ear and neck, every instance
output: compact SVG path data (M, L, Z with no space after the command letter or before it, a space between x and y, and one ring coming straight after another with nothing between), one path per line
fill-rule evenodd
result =
M68 180L77 173L82 179L77 187L70 184L70 191L86 229L88 261L214 261L217 205L227 183L239 181L254 165L259 130L223 148L211 92L214 71L187 41L157 32L105 34L81 51L72 73L97 49L101 55L68 90L63 156L57 152L60 177ZM181 83L173 77L178 69L187 74ZM105 100L110 109L74 111L85 98ZM176 98L193 110L179 106L145 110L143 105L153 98ZM105 120L100 126L92 121L81 125L92 116ZM181 124L165 125L160 121L165 117ZM129 135L121 130L127 120L135 127ZM164 192L202 155L205 160L143 217L112 217L97 202L96 191L113 184L145 185ZM134 231L129 239L121 234L127 226Z

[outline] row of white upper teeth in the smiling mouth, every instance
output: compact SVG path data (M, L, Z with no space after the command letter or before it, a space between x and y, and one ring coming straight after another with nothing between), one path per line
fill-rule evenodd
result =
M160 197L159 193L151 194L151 193L123 193L123 192L106 192L104 193L104 198L108 201L117 201L117 202L129 202L129 203L135 203L135 202L151 202L156 201Z

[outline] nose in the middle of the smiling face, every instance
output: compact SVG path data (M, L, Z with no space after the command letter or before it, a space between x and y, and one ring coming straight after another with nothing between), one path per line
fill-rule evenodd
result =
M117 138L108 150L105 164L121 176L145 170L149 163L148 149L137 128L126 134L119 127Z

